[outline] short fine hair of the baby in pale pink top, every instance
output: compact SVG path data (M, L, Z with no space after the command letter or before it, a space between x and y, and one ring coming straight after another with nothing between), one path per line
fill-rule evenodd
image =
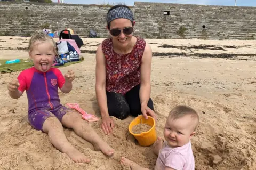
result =
M196 127L199 123L199 115L197 114L197 112L189 107L189 106L185 106L185 105L178 105L175 106L168 115L168 118L171 118L173 120L185 117L185 116L191 116L191 119L193 120L193 122L195 123L195 130Z

